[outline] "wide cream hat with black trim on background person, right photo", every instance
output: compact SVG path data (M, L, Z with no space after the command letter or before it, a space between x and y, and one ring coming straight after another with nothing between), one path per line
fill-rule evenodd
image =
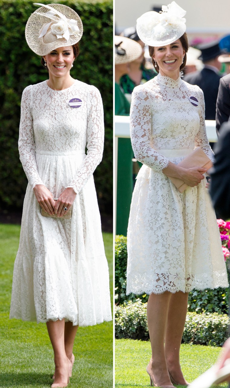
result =
M135 61L141 54L142 47L138 42L115 35L115 65Z

